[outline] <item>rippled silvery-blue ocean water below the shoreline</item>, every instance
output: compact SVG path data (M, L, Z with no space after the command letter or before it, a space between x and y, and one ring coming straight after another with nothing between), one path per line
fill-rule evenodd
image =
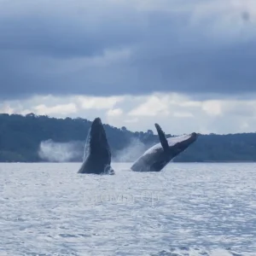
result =
M256 255L256 164L0 164L0 255Z

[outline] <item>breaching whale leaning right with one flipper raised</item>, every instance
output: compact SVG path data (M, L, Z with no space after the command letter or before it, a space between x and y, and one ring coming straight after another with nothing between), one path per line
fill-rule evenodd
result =
M155 144L139 157L131 166L134 172L160 172L177 154L182 153L194 143L198 135L193 132L180 137L166 138L160 125L154 124L160 143Z

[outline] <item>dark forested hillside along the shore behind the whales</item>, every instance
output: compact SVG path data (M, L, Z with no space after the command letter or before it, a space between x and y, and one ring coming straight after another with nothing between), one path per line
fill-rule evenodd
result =
M0 114L0 161L81 161L90 124L87 119ZM153 130L146 132L104 126L114 161L136 160L147 148L159 143L154 125ZM201 135L174 161L245 160L256 160L256 133Z

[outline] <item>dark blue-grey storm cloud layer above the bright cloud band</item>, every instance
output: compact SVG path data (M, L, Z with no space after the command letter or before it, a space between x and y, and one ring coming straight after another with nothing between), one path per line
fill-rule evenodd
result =
M2 99L256 90L252 15L228 26L232 10L209 12L192 26L192 2L0 1Z

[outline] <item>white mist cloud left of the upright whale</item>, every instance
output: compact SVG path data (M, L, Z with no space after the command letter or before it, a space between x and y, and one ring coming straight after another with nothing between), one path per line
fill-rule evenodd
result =
M78 142L55 143L53 140L47 140L40 143L38 150L39 157L49 162L67 162L78 159L81 154Z

